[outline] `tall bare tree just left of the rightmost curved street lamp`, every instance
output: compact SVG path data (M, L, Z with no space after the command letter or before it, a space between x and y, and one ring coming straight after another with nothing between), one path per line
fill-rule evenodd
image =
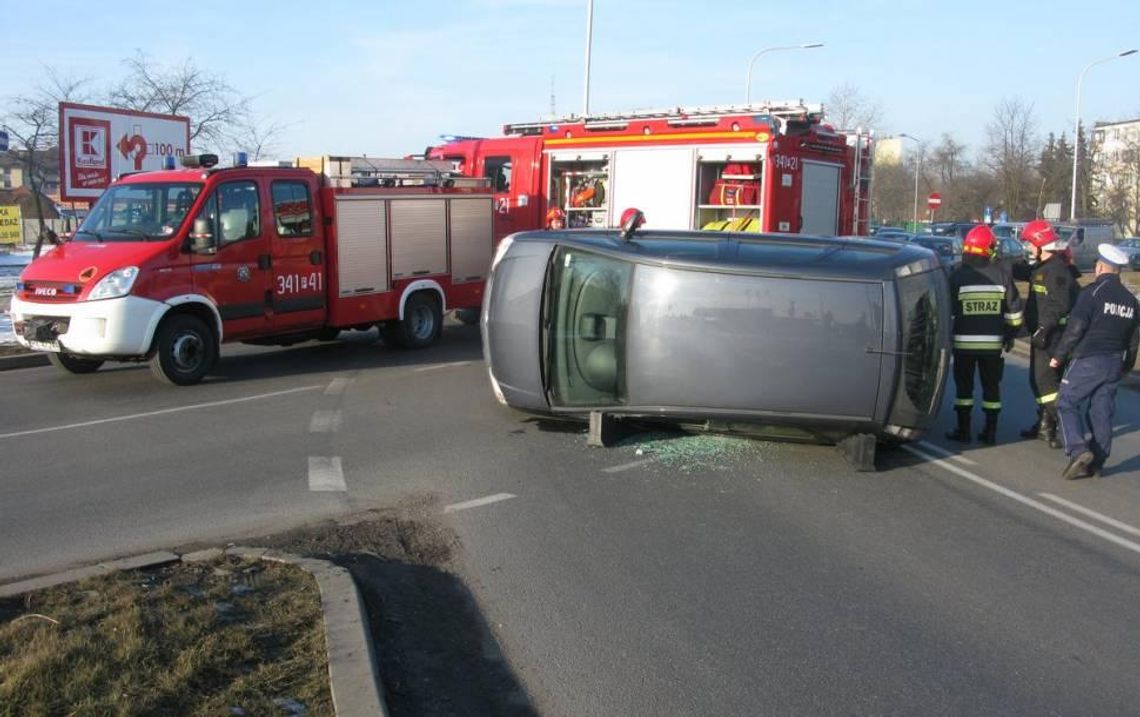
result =
M1036 163L1040 155L1033 105L1020 99L1003 99L986 125L984 163L1001 188L1002 204L1011 219L1036 213Z

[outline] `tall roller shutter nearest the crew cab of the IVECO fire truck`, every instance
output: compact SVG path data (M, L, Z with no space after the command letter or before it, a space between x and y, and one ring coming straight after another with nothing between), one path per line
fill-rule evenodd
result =
M388 291L388 211L384 199L336 197L340 296Z

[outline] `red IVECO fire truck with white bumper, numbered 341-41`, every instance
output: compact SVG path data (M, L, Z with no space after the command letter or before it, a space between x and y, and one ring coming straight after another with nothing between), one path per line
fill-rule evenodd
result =
M201 381L222 342L290 344L381 328L435 341L477 309L492 252L487 182L446 162L319 157L295 168L140 172L114 182L11 300L17 340L71 373L148 360Z

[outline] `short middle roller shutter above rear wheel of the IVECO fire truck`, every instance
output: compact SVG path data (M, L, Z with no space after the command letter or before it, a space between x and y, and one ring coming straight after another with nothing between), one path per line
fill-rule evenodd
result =
M392 278L447 274L447 199L392 199Z

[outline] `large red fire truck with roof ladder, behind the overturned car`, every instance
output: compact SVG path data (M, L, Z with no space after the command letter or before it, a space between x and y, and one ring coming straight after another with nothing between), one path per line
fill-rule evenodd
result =
M496 241L552 207L568 226L868 234L870 132L840 132L803 103L643 111L507 124L505 137L429 150L491 181Z

